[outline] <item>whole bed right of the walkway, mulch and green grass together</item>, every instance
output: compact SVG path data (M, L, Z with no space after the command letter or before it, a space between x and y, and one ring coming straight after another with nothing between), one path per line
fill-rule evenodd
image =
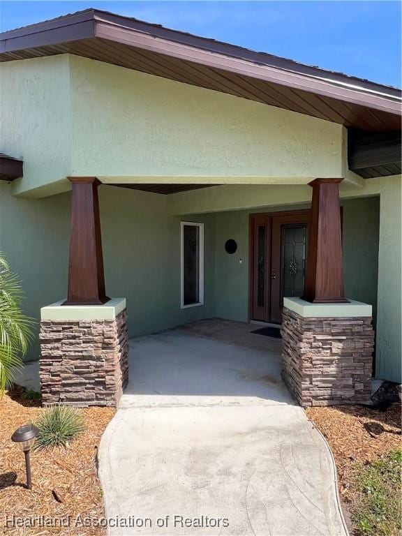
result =
M327 438L353 536L400 536L401 404L384 412L362 406L308 408Z

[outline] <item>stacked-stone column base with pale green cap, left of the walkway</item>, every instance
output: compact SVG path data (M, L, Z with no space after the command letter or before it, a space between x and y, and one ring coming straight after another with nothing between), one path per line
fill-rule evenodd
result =
M41 311L43 404L117 406L128 382L126 300L103 306L61 303Z

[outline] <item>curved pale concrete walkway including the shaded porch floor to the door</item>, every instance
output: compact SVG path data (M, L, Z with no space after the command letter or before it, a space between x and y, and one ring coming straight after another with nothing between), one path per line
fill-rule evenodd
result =
M99 448L110 535L344 536L329 449L280 376L280 340L203 321L131 341ZM168 522L166 522L168 516Z

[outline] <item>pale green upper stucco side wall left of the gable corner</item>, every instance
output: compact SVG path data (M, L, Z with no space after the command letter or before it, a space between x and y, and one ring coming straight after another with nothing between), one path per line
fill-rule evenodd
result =
M1 151L24 161L16 193L54 183L52 193L70 174L69 88L66 55L1 64Z

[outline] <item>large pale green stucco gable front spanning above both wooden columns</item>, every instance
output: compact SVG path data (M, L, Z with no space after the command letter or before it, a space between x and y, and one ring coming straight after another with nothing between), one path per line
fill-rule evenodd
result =
M341 174L340 125L80 57L70 69L73 174Z

